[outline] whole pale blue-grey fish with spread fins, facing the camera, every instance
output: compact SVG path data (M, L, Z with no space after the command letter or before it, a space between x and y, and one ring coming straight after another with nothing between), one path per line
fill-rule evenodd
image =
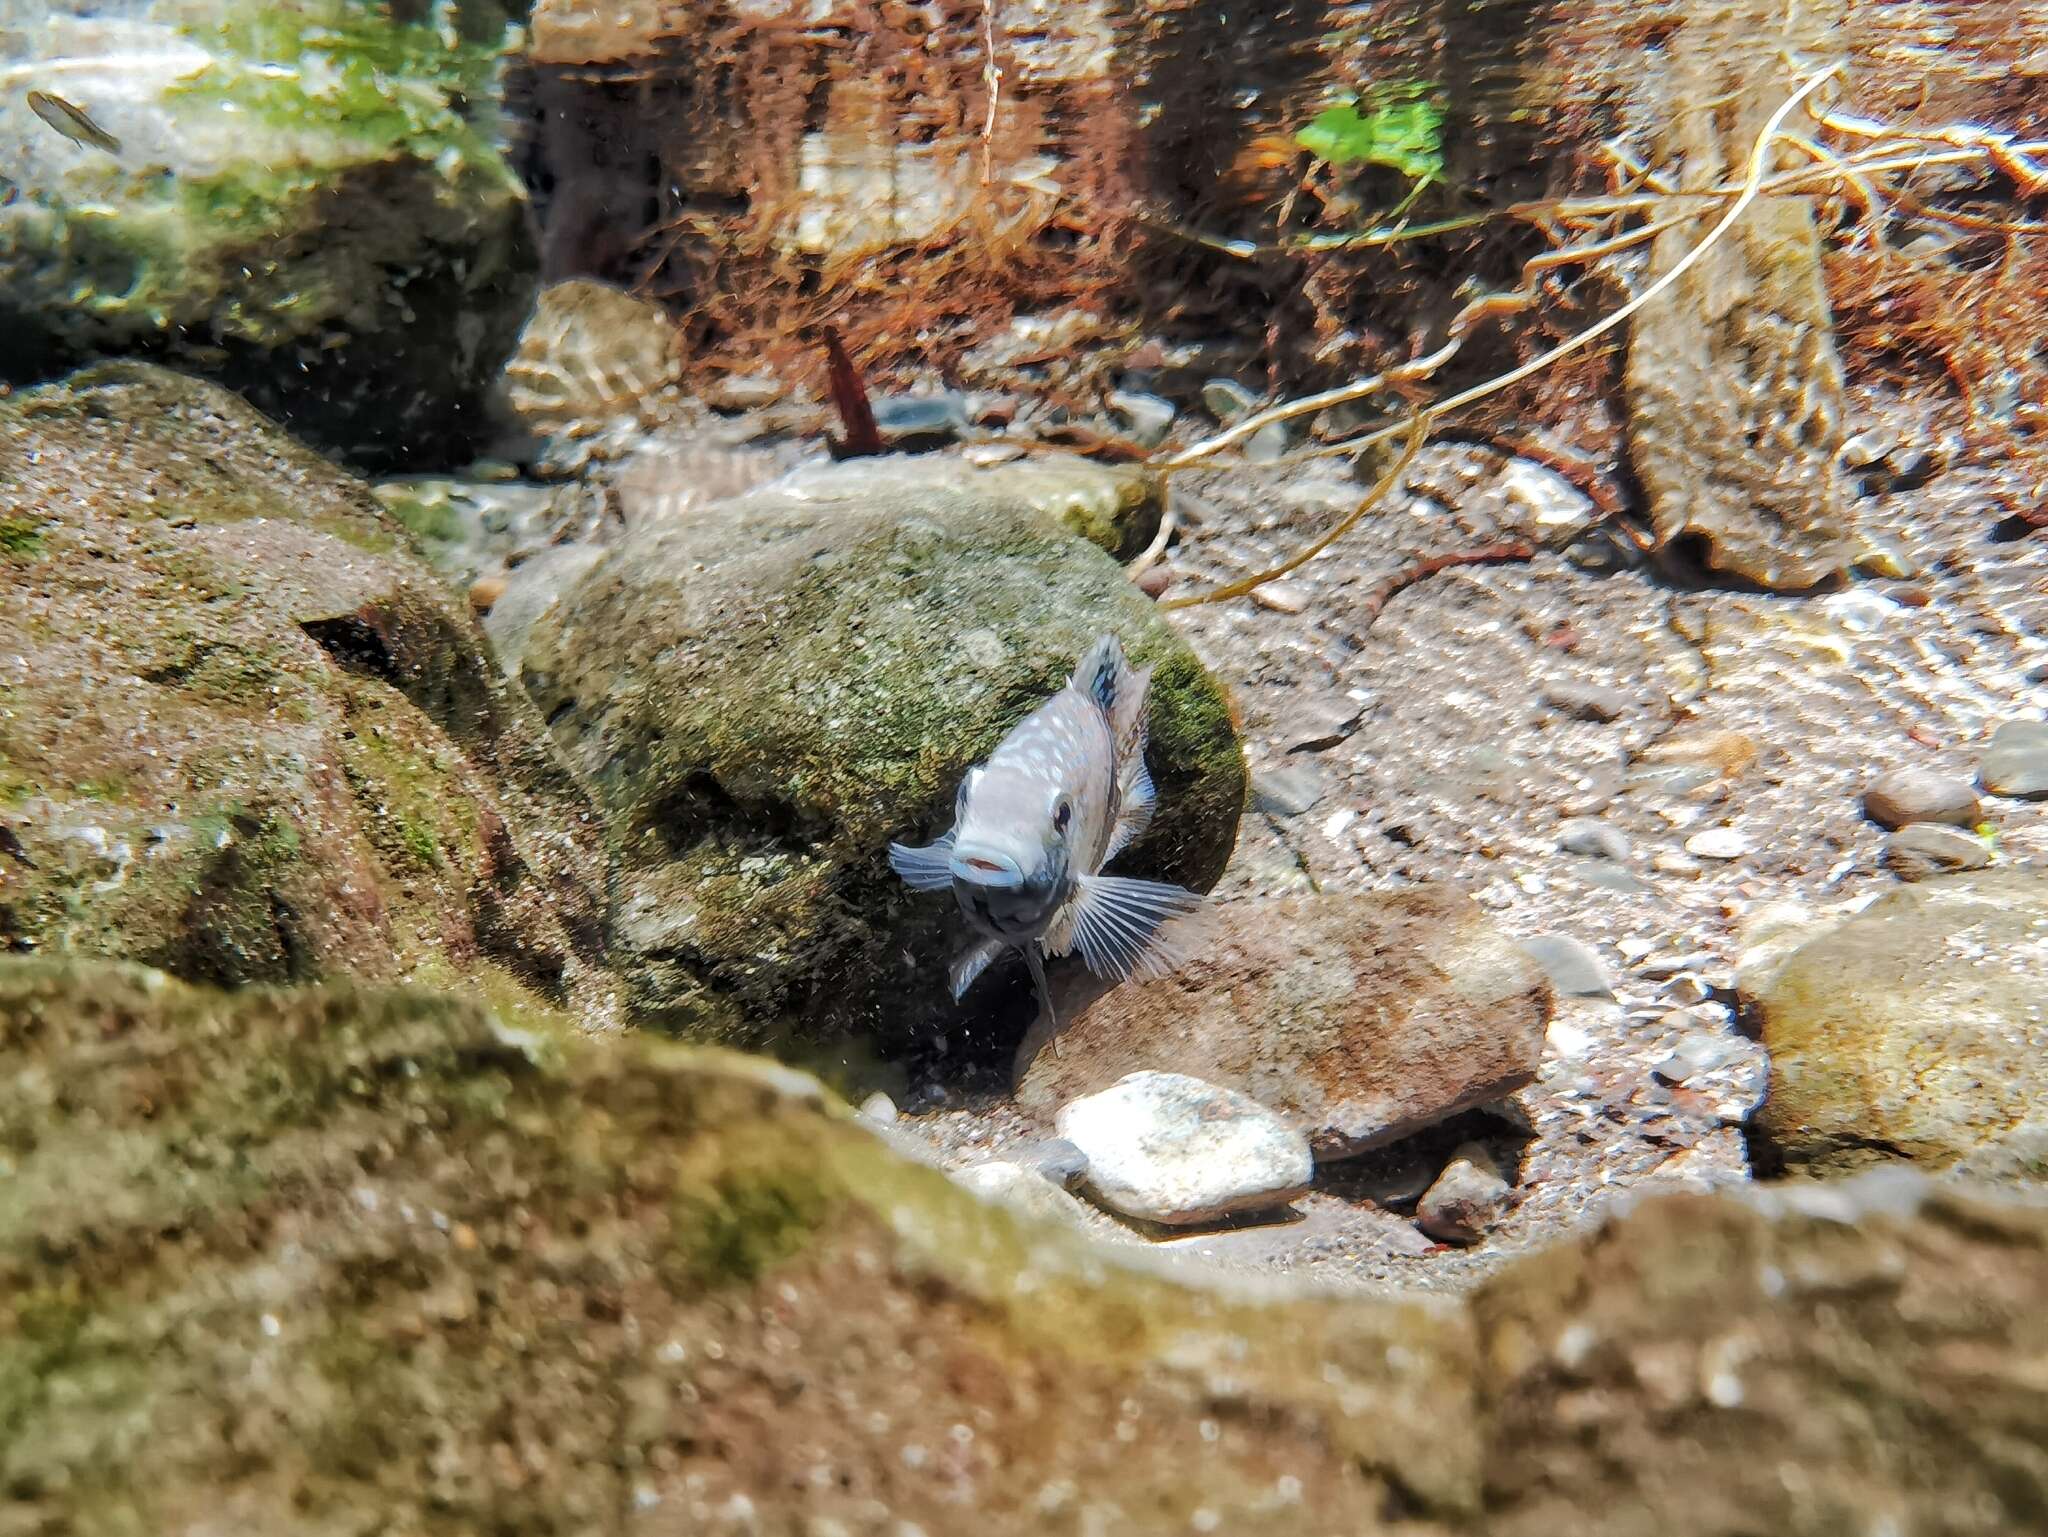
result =
M952 887L983 934L952 963L952 996L1006 949L1020 951L1053 1019L1044 957L1079 951L1106 980L1157 975L1167 918L1202 898L1161 881L1104 875L1151 820L1145 691L1114 635L1098 639L1067 687L1026 715L989 760L961 779L952 830L926 848L889 844L889 865L918 891Z

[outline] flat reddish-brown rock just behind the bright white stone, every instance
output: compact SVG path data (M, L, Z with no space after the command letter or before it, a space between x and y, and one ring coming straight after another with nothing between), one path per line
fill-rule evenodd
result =
M1182 1072L1343 1158L1528 1084L1548 1019L1542 971L1456 887L1243 902L1174 975L1075 1014L1018 1098L1051 1113L1126 1072Z

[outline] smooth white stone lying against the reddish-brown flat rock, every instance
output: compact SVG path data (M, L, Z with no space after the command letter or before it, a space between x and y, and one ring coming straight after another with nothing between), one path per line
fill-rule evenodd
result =
M1309 1139L1247 1094L1178 1072L1135 1072L1059 1113L1112 1211L1192 1223L1286 1205L1309 1189Z

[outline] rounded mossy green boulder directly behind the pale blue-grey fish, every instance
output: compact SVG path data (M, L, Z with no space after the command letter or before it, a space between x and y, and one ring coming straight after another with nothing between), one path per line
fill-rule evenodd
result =
M963 771L1114 631L1153 666L1159 814L1116 869L1208 887L1243 812L1221 687L1069 508L954 480L815 482L631 533L535 623L522 676L592 785L639 1016L885 1049L991 1027L946 996L946 896L887 865L950 824ZM1022 990L1014 990L1012 1002Z

